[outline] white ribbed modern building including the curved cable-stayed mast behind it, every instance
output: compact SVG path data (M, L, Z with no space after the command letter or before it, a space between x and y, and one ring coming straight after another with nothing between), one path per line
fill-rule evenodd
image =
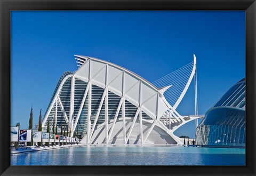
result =
M75 57L78 69L62 74L47 108L43 131L49 122L58 131L66 125L71 136L78 132L87 145L180 145L183 139L173 132L202 117L182 116L175 110L196 75L195 55L193 62L154 84L114 63Z

